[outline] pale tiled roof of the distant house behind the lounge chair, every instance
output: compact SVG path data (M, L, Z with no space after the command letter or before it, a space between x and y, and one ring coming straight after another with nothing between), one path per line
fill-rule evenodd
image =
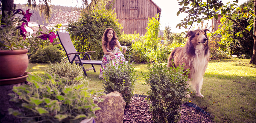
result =
M61 24L62 26L69 25L69 21L76 21L80 17L80 12L78 11L69 11L69 12L56 12L53 16L52 20L48 24L48 27L53 27L57 24Z

